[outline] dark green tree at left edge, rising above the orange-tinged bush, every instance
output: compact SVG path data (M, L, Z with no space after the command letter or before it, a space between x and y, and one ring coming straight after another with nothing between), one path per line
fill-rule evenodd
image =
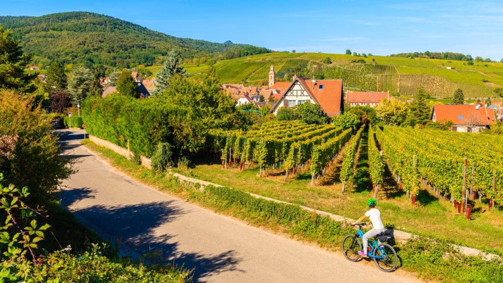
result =
M31 57L23 54L20 42L13 39L10 30L0 25L0 89L33 92L33 80L37 74L25 73L25 66Z

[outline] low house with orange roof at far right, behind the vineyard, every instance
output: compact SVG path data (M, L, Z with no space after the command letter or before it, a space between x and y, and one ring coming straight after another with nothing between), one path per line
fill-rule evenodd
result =
M484 104L435 105L432 121L452 121L453 131L479 132L496 123L496 117Z

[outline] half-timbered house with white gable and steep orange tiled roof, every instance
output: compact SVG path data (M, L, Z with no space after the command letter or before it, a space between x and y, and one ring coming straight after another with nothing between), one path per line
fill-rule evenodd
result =
M319 104L328 117L336 117L344 111L342 80L311 80L293 77L293 82L271 109L277 114L281 107L294 107L302 103Z

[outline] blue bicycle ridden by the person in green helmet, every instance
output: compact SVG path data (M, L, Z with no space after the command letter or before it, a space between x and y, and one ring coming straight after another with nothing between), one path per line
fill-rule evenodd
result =
M348 235L343 240L343 254L350 261L357 261L360 259L360 255L358 251L362 250L362 244L360 239L363 240L363 232L362 226L365 226L365 223L357 223L358 231L355 235ZM384 233L381 233L372 239L372 243L370 243L369 239L369 250L367 251L367 255L374 259L377 268L384 272L391 272L395 270L396 264L398 262L398 258L396 256L395 249L392 246L381 243L389 241L392 237L386 236Z

